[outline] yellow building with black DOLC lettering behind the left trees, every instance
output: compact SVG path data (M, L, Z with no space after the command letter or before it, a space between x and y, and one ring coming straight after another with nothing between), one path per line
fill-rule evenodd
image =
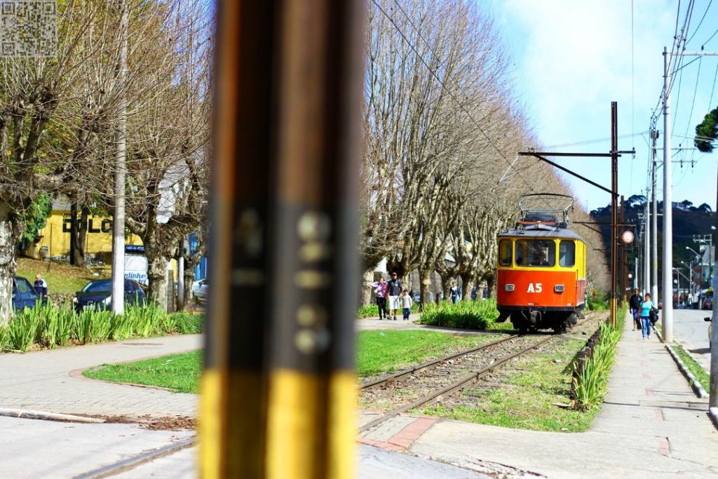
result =
M70 204L63 200L52 203L52 213L45 228L39 230L39 241L29 246L27 256L38 259L67 259L70 256ZM125 244L141 245L139 236L128 234ZM90 262L110 264L112 254L112 219L89 216L85 239L85 258Z

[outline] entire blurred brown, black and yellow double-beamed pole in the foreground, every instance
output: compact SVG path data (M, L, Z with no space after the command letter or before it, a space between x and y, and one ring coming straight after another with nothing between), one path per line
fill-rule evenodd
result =
M363 2L223 1L203 478L348 478Z

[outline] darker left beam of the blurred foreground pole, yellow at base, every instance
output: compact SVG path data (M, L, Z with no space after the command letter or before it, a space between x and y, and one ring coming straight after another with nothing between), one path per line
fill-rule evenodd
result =
M266 477L270 172L276 8L220 1L210 221L210 300L200 396L200 477Z

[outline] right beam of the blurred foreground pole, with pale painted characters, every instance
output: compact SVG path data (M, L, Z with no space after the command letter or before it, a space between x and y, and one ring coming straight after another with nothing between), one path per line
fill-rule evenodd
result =
M364 3L277 2L268 478L354 474Z

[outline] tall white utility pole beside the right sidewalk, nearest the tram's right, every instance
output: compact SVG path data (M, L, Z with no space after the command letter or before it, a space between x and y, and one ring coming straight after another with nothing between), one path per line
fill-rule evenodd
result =
M671 73L663 47L663 341L673 343L673 180L671 179Z

